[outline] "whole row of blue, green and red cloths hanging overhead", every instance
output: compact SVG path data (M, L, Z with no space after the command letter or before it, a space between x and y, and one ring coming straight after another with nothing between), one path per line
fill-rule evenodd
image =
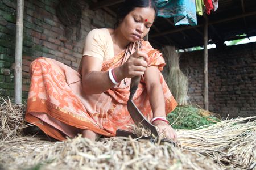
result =
M156 0L158 16L174 18L176 25L197 25L196 14L203 15L203 12L210 15L210 12L218 8L218 0Z

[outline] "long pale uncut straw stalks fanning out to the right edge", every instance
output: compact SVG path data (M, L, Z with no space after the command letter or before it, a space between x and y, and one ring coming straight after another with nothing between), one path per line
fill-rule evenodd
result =
M255 167L255 118L236 118L207 125L204 128L179 130L180 148L209 155L221 167L241 169ZM250 122L245 123L246 121Z

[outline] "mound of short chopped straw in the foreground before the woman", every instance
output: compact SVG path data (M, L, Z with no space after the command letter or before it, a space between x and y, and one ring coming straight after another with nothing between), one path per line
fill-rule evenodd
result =
M91 142L79 136L57 142L46 150L27 156L26 159L26 156L19 159L19 164L11 164L9 168L31 166L35 169L40 166L42 169L221 169L206 156L181 151L170 143L155 145L149 141L139 142L122 137Z

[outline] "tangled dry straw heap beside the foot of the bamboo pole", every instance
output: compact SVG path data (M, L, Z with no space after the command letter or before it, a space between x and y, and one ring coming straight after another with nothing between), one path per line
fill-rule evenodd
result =
M25 126L24 112L26 106L12 104L10 99L0 99L0 139L5 141L22 135Z

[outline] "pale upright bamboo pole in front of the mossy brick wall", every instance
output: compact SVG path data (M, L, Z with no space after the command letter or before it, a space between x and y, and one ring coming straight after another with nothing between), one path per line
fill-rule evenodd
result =
M15 68L14 68L14 71L15 71L14 90L15 90L16 104L22 103L23 11L24 11L24 0L17 0Z

